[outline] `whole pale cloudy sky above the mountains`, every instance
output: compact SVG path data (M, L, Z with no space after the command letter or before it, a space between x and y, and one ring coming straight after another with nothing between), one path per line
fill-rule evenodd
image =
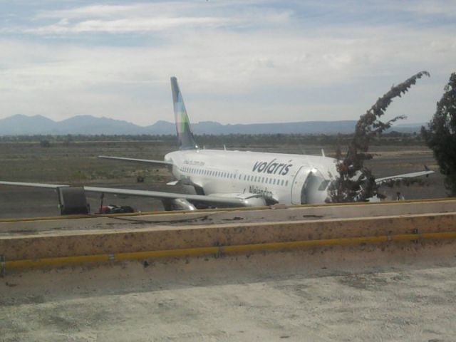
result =
M356 120L418 71L385 119L423 123L456 71L456 1L0 0L0 118Z

